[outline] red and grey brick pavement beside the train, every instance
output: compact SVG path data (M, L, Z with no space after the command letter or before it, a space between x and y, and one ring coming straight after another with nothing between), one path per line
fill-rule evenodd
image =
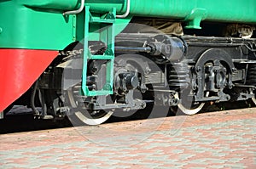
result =
M229 110L3 134L0 168L254 169L255 112Z

